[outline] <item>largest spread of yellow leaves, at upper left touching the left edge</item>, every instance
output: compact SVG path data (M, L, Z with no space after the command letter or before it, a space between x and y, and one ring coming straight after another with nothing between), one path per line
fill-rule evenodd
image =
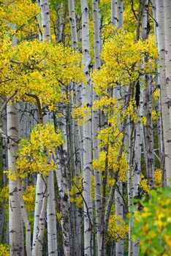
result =
M80 67L81 56L63 45L47 42L22 42L14 48L4 49L7 61L0 67L0 80L6 80L0 94L11 95L18 90L16 101L34 102L27 94L39 97L43 106L53 110L57 102L64 102L64 86L71 82L83 82Z

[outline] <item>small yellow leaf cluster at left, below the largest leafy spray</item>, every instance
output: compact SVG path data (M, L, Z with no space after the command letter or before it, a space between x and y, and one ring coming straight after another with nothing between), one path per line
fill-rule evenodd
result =
M46 176L50 170L55 170L53 151L63 143L61 132L55 131L53 124L38 124L32 130L30 140L22 139L19 143L18 176L26 178L28 173Z

